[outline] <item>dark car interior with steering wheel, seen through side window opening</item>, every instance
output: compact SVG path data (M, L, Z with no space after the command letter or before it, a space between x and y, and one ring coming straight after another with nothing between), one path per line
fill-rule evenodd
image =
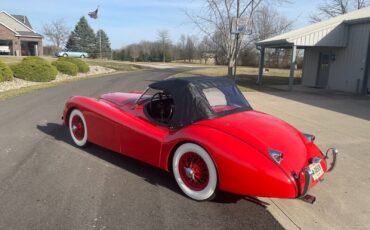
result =
M148 115L156 122L169 124L174 110L172 96L165 92L158 92L152 96L145 109Z

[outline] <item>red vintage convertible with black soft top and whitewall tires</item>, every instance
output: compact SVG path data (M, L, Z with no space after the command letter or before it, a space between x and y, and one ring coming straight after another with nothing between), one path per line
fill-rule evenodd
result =
M303 134L252 109L233 81L189 77L158 81L145 92L74 96L63 114L77 146L89 142L173 173L198 201L218 190L302 198L336 162Z

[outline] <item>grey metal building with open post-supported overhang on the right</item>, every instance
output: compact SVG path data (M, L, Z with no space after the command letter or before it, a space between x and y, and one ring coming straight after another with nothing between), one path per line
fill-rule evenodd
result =
M260 50L258 82L263 79L265 49L291 50L289 89L297 49L304 49L302 83L354 93L370 91L370 7L284 33L256 43Z

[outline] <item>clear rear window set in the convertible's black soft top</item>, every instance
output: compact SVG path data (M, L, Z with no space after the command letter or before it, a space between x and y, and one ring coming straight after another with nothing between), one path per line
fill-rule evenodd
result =
M216 114L250 108L248 101L235 85L205 88L202 92L211 106L212 111Z

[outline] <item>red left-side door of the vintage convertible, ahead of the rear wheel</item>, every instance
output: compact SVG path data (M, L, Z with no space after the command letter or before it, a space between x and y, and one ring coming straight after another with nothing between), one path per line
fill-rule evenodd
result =
M159 167L162 143L169 128L146 119L142 106L133 110L133 116L122 125L122 154Z

